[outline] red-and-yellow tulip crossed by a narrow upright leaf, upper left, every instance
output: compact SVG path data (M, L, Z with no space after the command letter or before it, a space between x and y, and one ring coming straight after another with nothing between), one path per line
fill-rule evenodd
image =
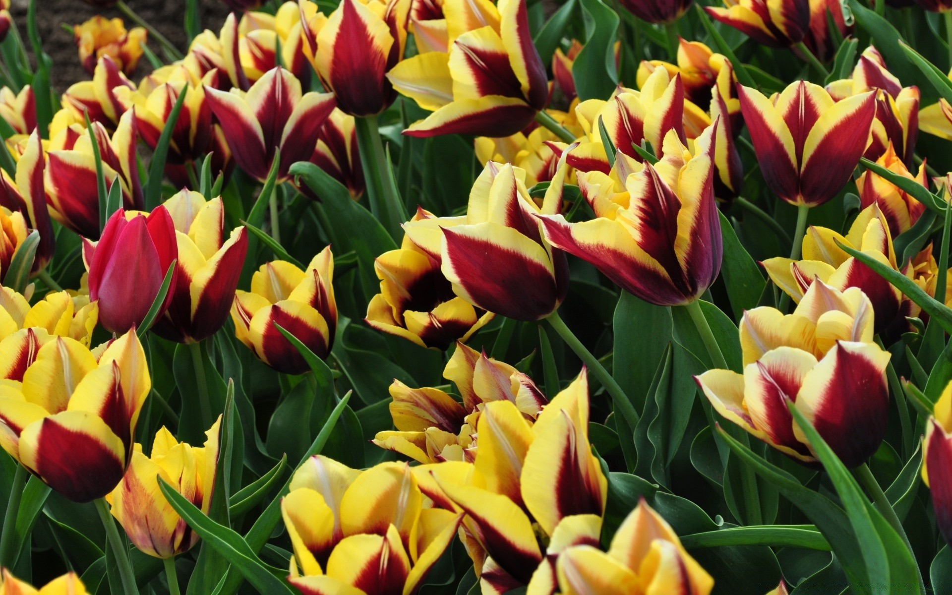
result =
M111 138L99 122L92 123L107 188L118 183L127 208L143 206L142 185L136 163L137 140L133 111L119 119ZM85 125L73 124L50 141L44 172L50 215L60 224L88 238L98 238L99 193L96 158ZM148 308L148 305L147 305Z

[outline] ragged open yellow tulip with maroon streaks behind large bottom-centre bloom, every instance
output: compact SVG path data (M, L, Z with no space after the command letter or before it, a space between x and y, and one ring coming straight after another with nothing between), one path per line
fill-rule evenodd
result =
M547 403L525 373L462 343L443 376L456 385L463 405L439 388L410 388L395 380L390 385L390 416L397 430L377 432L373 443L424 464L472 462L477 454L477 421L487 403L509 401L529 421Z

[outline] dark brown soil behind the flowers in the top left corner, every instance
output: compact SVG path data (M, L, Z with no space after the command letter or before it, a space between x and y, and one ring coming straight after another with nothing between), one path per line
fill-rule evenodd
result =
M218 33L225 17L228 16L228 7L219 0L200 0L202 9L202 27ZM128 0L129 7L135 10L163 35L169 38L176 47L183 52L187 49L185 33L185 0ZM20 30L24 42L27 41L27 1L14 0L10 9L13 20ZM77 25L95 14L112 18L122 17L114 8L99 9L89 6L82 0L37 0L37 25L40 37L43 39L43 50L50 54L53 68L50 82L57 91L66 90L69 85L89 78L89 74L79 64L79 56L72 34L64 30L62 24ZM126 21L126 28L131 29L134 23ZM149 49L161 56L159 44L149 40ZM136 82L149 72L149 61L145 57L139 63L139 69L132 79Z

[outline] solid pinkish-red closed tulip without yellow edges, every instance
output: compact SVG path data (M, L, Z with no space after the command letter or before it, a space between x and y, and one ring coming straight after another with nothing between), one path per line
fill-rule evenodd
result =
M175 236L167 208L159 206L148 216L120 208L109 217L99 242L84 247L83 258L89 267L89 299L99 302L103 327L119 333L143 323L172 261L179 259ZM187 252L185 259L191 257ZM194 262L183 263L182 267L192 271ZM156 320L175 295L178 269L172 269L169 292Z

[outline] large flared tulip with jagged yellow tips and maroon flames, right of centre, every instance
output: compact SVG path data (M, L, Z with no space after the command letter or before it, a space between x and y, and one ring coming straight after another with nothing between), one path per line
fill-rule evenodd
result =
M714 134L704 131L689 152L674 129L656 166L618 175L579 172L579 188L596 218L569 224L541 217L545 239L601 270L626 291L660 306L694 302L721 269L721 222L714 200ZM619 151L615 168L639 166ZM676 241L677 240L677 241Z

